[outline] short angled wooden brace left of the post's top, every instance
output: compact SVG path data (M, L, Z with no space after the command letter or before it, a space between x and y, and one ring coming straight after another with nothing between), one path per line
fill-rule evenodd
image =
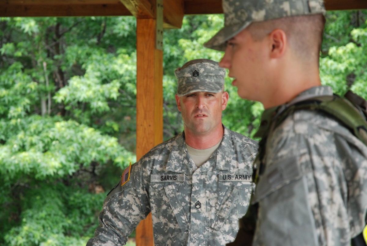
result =
M155 18L155 0L120 0L137 18Z

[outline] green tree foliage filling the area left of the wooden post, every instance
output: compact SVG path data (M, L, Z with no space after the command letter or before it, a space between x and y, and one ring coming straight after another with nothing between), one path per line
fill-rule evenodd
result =
M93 235L105 191L135 161L134 25L0 19L1 245Z

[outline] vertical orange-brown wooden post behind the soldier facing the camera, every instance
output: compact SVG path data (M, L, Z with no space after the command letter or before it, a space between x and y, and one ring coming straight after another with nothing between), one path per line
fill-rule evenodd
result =
M156 19L137 18L137 159L163 141L163 51ZM153 246L152 217L136 229L137 246Z

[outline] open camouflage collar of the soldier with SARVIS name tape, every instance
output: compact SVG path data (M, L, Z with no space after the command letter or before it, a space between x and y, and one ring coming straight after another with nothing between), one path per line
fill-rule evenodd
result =
M229 130L223 125L224 135L222 142L220 143L218 149L214 151L213 155L210 157L214 158L214 164L206 165L205 163L200 167L200 171L211 171L217 170L230 170L230 164L235 151L232 145L232 136ZM172 146L170 156L167 160L166 169L173 172L187 172L190 167L184 164L188 162L188 151L185 145L185 133L180 133Z

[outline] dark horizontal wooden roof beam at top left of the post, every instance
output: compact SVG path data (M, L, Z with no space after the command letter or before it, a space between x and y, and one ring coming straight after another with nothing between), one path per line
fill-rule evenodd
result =
M0 3L0 17L62 17L131 15L122 3L36 5Z

